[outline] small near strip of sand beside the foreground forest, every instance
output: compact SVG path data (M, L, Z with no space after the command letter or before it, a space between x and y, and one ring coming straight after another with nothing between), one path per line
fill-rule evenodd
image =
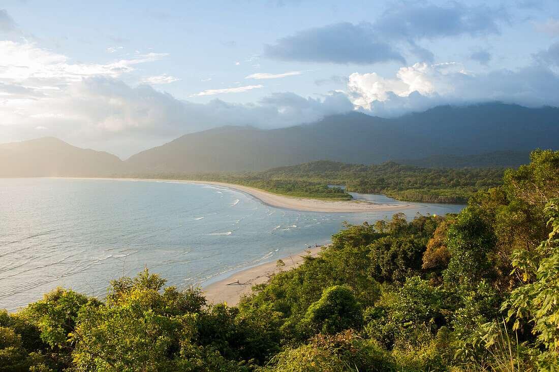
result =
M312 247L310 255L312 257L318 256L322 248ZM288 257L283 257L282 261L285 263L285 266L281 270L287 271L299 266L303 262L303 257L307 255L309 255L308 252L302 251ZM237 306L241 296L250 293L253 285L267 283L273 274L278 272L276 265L277 261L272 261L254 266L203 287L207 302L226 303L228 306Z

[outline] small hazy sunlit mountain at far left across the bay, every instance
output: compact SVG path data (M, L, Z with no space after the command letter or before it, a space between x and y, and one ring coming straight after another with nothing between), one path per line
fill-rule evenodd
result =
M85 177L124 169L115 155L80 149L54 137L0 144L0 177Z

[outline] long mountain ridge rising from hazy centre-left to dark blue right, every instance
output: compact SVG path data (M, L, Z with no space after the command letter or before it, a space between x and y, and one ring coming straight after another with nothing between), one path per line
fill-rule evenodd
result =
M333 160L379 164L433 155L557 149L559 108L485 103L399 118L352 112L274 130L221 127L179 137L126 160L132 171L241 171ZM503 155L506 156L506 155Z

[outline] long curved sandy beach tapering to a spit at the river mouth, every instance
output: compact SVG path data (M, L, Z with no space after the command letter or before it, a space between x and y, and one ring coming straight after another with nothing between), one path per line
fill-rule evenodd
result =
M363 212L383 212L396 211L400 209L414 208L413 204L377 204L365 201L325 201L321 199L306 199L290 197L269 193L263 190L248 186L236 185L225 182L198 181L198 180L175 180L175 179L154 179L154 178L97 178L97 177L53 177L70 179L106 179L106 180L135 180L135 181L158 181L158 182L182 182L215 185L244 192L258 199L260 202L276 207L292 209L293 211L304 212L327 212L327 213L363 213Z

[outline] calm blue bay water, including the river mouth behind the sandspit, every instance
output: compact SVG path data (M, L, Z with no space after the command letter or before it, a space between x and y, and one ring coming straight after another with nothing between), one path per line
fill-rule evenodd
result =
M413 218L463 208L415 205L402 212ZM15 311L58 286L103 297L111 280L146 265L169 285L209 284L324 244L342 221L371 222L396 212L292 211L205 184L0 179L0 308Z

